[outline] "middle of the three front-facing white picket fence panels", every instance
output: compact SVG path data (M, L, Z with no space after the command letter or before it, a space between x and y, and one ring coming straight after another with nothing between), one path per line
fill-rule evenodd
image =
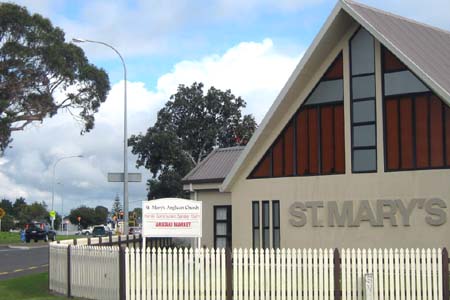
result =
M234 299L334 299L332 249L233 251Z

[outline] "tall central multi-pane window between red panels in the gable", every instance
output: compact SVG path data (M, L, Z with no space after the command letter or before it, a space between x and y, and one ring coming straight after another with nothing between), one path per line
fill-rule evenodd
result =
M376 172L374 39L364 28L350 40L352 171Z

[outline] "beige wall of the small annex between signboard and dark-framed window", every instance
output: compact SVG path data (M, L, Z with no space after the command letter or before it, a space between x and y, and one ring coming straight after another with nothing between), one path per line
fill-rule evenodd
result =
M220 193L219 190L199 190L197 200L202 201L202 246L214 246L214 206L230 205L231 194ZM191 199L195 199L195 193L191 193Z

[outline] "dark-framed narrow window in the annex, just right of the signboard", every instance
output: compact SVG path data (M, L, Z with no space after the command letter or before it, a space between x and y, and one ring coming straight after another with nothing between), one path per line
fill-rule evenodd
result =
M214 248L231 248L231 205L214 206Z

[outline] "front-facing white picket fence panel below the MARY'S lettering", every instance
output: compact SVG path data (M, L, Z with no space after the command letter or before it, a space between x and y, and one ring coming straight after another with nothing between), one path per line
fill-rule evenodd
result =
M440 300L443 295L441 249L345 249L342 299ZM372 274L373 290L364 291Z

